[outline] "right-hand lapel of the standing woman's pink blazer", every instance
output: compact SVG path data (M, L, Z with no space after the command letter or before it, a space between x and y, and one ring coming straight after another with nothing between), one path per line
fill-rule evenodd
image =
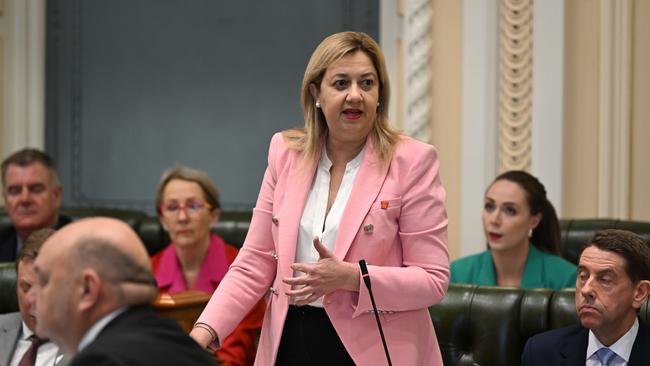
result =
M363 162L339 223L336 243L334 244L334 255L337 258L341 260L345 258L354 237L361 227L361 223L381 190L387 173L388 165L381 167L377 154L375 154L372 139L368 137Z

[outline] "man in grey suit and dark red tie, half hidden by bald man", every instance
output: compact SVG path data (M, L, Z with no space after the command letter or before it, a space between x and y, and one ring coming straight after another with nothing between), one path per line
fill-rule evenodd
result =
M36 282L34 259L43 242L53 233L54 230L49 228L35 231L18 253L16 292L20 312L0 315L0 366L52 366L66 362L56 344L47 339L35 338L37 320L27 301L27 293Z

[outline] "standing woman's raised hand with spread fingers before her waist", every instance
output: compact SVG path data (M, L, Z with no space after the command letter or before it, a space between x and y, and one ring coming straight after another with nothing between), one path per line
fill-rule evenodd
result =
M291 269L305 273L297 277L284 278L282 282L291 285L286 292L295 297L295 305L306 305L318 300L332 291L344 289L359 291L359 266L343 262L327 250L318 237L314 238L314 248L319 259L316 263L294 263Z

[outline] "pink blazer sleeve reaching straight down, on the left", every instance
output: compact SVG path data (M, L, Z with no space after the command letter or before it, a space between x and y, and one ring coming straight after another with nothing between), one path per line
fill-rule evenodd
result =
M271 139L268 167L244 245L197 320L210 325L220 340L235 329L275 278L277 266L271 219L277 182L276 152L282 143L282 135L276 133Z

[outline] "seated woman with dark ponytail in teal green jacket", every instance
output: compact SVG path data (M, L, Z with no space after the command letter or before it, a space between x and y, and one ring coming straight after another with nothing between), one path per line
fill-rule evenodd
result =
M452 283L575 286L576 266L559 256L560 223L537 178L519 170L499 175L485 192L482 218L488 250L452 262Z

